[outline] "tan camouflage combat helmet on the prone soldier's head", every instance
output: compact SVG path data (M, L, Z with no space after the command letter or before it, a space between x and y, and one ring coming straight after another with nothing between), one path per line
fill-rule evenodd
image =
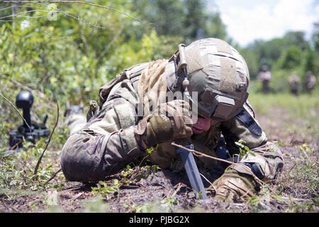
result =
M183 90L186 85L191 106L198 115L217 121L227 121L239 114L248 97L250 75L244 58L235 48L217 38L197 40L181 48L167 64L167 87L172 92ZM179 65L186 65L189 82L181 83ZM185 79L185 78L184 78ZM198 92L197 100L191 98Z

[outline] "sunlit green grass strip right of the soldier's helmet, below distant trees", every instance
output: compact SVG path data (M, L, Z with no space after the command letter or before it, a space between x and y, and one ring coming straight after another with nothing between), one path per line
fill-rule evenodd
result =
M312 95L299 96L289 93L252 93L248 100L257 118L264 115L283 126L283 130L302 135L303 138L319 138L319 89Z

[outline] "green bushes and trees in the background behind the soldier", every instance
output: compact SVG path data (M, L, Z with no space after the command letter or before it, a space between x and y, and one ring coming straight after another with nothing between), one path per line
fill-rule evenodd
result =
M77 103L94 99L97 88L125 67L170 57L179 43L207 37L235 45L247 60L252 79L263 63L268 64L278 85L275 90L284 87L293 71L300 77L307 70L319 74L318 24L310 40L302 32L289 32L242 48L228 37L218 11L208 7L208 1L94 3L140 21L100 7L58 3L53 21L48 20L48 4L18 5L17 16L12 17L11 5L1 4L1 9L8 9L0 11L0 74L62 103Z

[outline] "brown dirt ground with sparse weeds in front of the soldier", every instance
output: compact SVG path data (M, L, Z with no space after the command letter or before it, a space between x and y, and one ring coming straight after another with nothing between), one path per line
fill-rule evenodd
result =
M216 201L211 191L207 192L208 199L198 200L183 172L145 166L108 177L100 188L96 184L65 182L60 173L50 184L64 182L61 189L25 194L1 192L0 211L318 212L319 142L307 131L313 126L305 126L281 108L257 114L257 119L269 140L278 141L285 165L279 178L250 201L226 204ZM291 124L306 130L293 131L289 129Z

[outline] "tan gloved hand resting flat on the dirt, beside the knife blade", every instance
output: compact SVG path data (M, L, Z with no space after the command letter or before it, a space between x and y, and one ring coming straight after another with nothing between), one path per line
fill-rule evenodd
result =
M216 189L216 199L233 203L253 196L256 182L252 175L238 172L231 165L220 178L213 182L213 186Z

